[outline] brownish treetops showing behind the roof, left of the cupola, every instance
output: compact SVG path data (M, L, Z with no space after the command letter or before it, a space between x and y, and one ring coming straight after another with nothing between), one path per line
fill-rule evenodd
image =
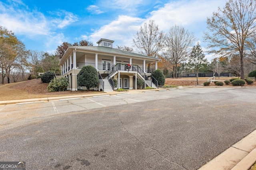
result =
M68 49L68 46L71 46L72 44L68 42L63 42L62 45L59 45L55 51L55 56L61 59L61 57L65 54L66 50ZM93 46L93 44L89 41L82 40L79 42L75 42L73 46Z

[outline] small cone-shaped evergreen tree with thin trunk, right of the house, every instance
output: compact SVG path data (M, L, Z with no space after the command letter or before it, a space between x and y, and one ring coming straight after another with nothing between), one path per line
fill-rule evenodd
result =
M197 42L196 45L194 45L189 59L188 59L188 63L190 65L190 67L192 69L194 69L194 71L196 72L196 84L198 84L198 72L199 69L207 64L207 60L204 58L205 55L202 51L201 46L199 45L199 42Z

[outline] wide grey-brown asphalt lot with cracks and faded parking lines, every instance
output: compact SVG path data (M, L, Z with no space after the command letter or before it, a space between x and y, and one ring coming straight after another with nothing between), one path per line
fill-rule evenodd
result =
M0 107L0 161L27 170L196 170L256 129L256 88Z

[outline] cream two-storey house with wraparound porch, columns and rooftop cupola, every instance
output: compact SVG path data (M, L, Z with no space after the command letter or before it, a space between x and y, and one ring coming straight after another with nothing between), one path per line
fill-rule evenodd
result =
M137 78L144 81L144 86L157 88L158 82L151 76L152 69L148 64L155 66L161 61L154 57L140 55L128 51L112 48L114 41L100 39L98 46L69 46L59 65L62 76L69 79L69 90L76 91L85 87L78 87L77 74L83 66L92 65L99 74L97 90L113 91L114 82L118 80L117 88L137 89Z

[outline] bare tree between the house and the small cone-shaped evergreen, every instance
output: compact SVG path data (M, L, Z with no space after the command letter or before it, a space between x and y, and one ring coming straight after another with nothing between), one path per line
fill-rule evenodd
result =
M173 78L178 77L177 67L182 61L186 61L186 57L190 53L190 47L195 41L193 33L185 30L182 26L174 25L170 27L170 31L165 35L164 58L173 63Z

